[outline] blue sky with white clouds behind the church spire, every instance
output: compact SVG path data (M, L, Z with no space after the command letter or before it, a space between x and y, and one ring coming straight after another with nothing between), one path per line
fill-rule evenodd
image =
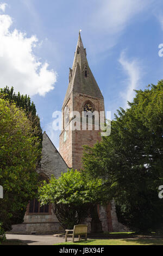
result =
M52 114L61 110L79 29L112 118L133 89L163 78L161 0L0 1L1 87L30 95L57 148Z

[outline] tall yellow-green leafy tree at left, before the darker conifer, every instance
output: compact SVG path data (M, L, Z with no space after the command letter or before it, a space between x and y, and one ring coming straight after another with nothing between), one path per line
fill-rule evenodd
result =
M28 201L35 197L40 139L22 109L0 98L0 223L5 230L23 221Z

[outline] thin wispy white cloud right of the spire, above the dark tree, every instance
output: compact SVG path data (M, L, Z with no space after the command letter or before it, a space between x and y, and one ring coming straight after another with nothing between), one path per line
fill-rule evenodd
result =
M124 81L125 83L127 83L127 90L125 93L121 93L125 101L124 108L127 108L127 101L131 102L133 100L133 97L135 95L134 90L137 87L140 87L140 84L138 84L138 82L140 82L140 78L142 76L142 67L139 60L128 60L125 56L124 51L121 53L119 62L122 65L125 74L128 76L126 81Z

